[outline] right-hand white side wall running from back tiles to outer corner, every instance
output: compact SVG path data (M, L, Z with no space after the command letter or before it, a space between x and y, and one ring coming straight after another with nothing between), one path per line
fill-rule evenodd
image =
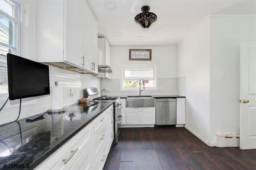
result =
M186 127L206 140L210 132L209 19L178 44L178 76L186 76Z

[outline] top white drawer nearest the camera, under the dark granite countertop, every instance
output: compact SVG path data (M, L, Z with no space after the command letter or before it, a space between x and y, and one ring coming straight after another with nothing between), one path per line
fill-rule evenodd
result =
M89 124L35 169L69 169L91 141L92 124ZM66 161L63 159L66 159Z

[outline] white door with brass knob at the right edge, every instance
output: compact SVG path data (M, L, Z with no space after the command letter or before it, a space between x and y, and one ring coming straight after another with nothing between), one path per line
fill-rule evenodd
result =
M256 148L256 42L240 44L240 149Z

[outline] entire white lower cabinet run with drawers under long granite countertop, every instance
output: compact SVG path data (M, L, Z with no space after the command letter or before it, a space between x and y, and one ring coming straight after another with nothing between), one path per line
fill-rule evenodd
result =
M35 169L102 170L113 139L112 105Z

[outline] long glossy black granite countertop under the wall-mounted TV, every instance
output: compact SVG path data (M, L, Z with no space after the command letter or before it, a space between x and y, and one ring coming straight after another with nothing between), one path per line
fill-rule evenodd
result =
M21 159L19 164L35 168L112 104L74 104L60 115L45 113L35 122L26 123L25 118L0 127L0 168L7 162L17 164L16 158Z

